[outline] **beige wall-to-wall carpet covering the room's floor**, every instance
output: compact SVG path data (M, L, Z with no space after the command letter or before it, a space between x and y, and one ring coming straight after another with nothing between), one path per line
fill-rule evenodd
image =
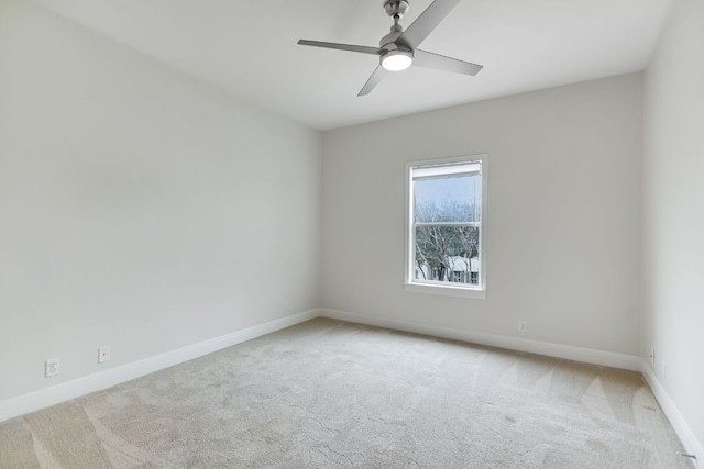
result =
M638 373L330 320L0 425L2 468L691 468Z

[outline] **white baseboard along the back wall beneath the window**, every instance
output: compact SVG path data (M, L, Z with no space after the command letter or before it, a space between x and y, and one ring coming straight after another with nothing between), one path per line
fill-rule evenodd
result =
M614 367L631 371L640 371L641 369L641 358L631 355L614 354L610 351L572 347L570 345L551 344L548 342L530 340L526 338L509 337L505 335L488 334L483 332L433 326L425 323L394 320L391 317L372 316L360 313L350 313L346 311L328 309L321 309L319 311L321 316L340 321L349 321L352 323L413 332L416 334L432 335L436 337L470 342L473 344L488 345L492 347L508 348L512 350L527 351L537 355L547 355L549 357L564 358L574 361L584 361L587 364L602 365L605 367Z

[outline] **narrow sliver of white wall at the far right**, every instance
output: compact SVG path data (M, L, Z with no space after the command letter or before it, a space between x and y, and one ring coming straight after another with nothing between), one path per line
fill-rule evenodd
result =
M642 356L648 357L650 349L656 349L652 369L698 440L702 459L704 2L701 0L674 2L646 70L645 129Z

